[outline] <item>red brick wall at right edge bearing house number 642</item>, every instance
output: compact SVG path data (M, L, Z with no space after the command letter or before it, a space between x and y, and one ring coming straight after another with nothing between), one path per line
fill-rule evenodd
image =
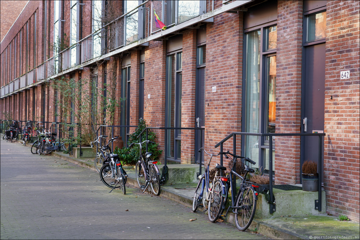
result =
M328 1L326 14L327 212L359 221L359 1ZM340 80L341 71L350 78Z

